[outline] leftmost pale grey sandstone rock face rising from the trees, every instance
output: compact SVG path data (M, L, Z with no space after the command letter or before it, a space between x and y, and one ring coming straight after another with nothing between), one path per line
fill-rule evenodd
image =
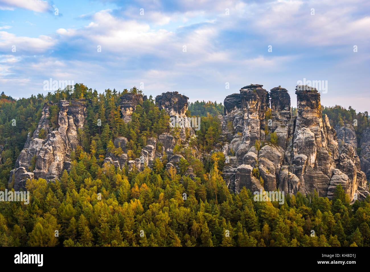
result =
M60 177L70 160L71 151L78 143L78 129L83 130L86 106L84 101L73 100L60 101L58 103L60 112L58 113L58 129L51 131L49 116L50 105L45 104L42 116L32 137L28 134L24 149L21 151L16 169L10 173L9 183L13 181L14 190L24 188L25 179L43 178L52 180ZM46 139L39 139L40 130L44 129L47 133ZM36 165L33 172L29 172L31 160L36 156Z

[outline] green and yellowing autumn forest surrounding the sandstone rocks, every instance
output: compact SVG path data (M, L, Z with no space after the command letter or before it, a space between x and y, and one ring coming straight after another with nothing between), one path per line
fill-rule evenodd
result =
M32 179L26 183L30 204L0 202L2 246L369 246L370 198L350 205L337 186L332 200L317 192L285 196L278 201L253 201L243 188L231 192L222 178L225 156L213 152L221 146L223 106L216 102L189 103L187 116L201 117L196 139L184 145L176 138L174 153L184 159L178 170L166 169L166 155L143 171L103 164L115 137L128 139L128 155L137 157L148 137L169 132L169 116L152 96L138 105L132 121L124 123L120 96L141 93L133 87L103 94L83 84L74 92L58 90L46 96L0 99L0 187L8 187L9 173L27 134L36 129L45 102L84 99L87 118L78 133L81 146L71 154L71 170L60 180ZM292 109L292 112L294 110ZM58 127L58 107L51 107L50 123ZM357 118L356 133L367 127L367 112L340 106L324 108L333 123ZM97 126L96 120L104 126ZM12 120L16 125L12 126ZM358 134L358 135L359 135ZM160 145L160 143L157 143ZM157 146L158 147L158 146ZM120 150L115 150L120 153ZM191 167L195 178L186 176ZM55 235L55 231L58 235Z

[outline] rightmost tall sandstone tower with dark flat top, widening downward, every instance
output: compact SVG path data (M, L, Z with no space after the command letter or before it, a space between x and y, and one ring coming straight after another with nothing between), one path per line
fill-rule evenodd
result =
M290 170L300 179L302 193L316 190L326 196L330 177L336 168L333 153L338 153L335 133L322 118L320 93L315 88L297 86L297 118L290 152ZM330 147L329 147L330 144ZM336 146L334 150L332 146Z

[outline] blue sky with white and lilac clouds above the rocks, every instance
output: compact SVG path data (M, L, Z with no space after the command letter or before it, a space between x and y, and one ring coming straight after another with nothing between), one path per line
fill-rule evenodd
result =
M368 0L0 0L0 92L52 78L223 102L262 84L296 106L295 86L320 81L322 105L364 112L369 42Z

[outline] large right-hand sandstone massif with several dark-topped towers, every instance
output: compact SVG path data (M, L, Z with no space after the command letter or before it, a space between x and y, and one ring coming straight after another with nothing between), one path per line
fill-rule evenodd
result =
M342 184L351 200L366 197L369 191L359 157L352 145L339 150L336 131L322 115L320 93L299 85L296 95L293 117L289 93L280 86L268 93L262 85L249 85L225 98L222 136L229 143L222 151L229 163L223 174L229 188L256 190L260 182L251 174L255 168L266 191L316 190L319 196L332 198L336 185Z

